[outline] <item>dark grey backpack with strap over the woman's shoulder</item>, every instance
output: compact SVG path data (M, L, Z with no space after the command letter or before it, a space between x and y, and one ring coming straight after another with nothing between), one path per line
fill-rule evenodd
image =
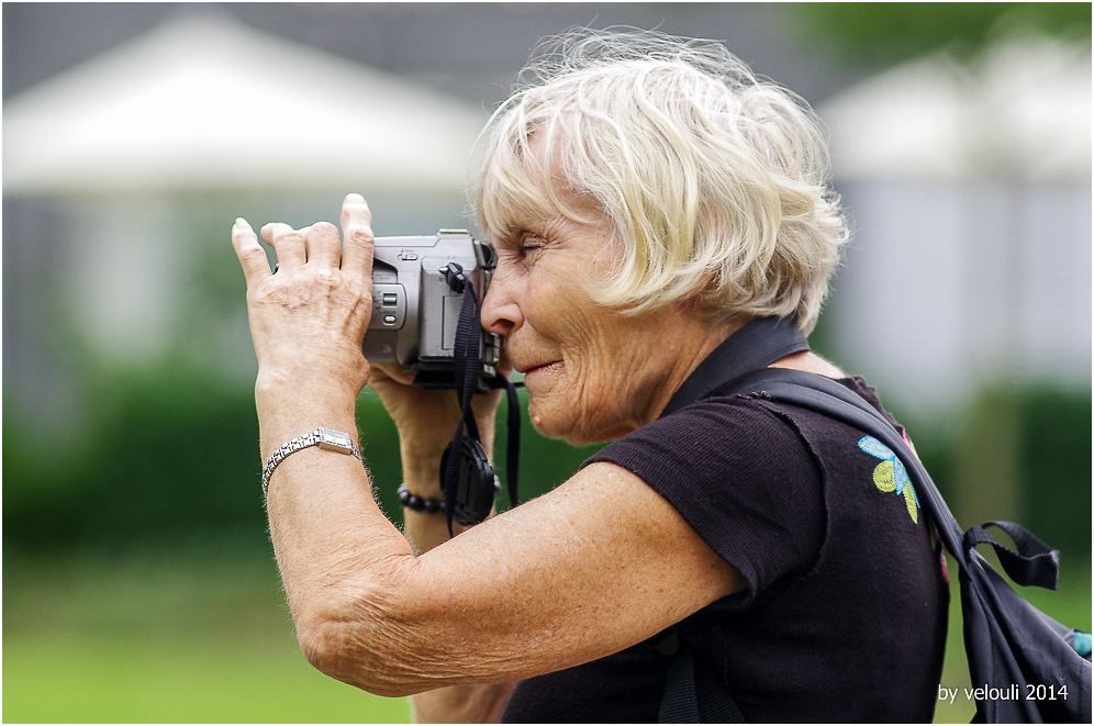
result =
M763 368L734 380L734 393L758 393L822 413L873 436L896 454L938 539L958 563L964 646L976 700L974 723L1091 723L1090 634L1069 628L1026 602L976 547L992 546L1014 582L1051 590L1059 574L1057 550L1009 522L989 522L962 533L904 437L845 386L782 368ZM712 389L710 379L707 383ZM1015 549L996 541L987 526L1006 532ZM744 723L725 686L695 659L690 644L695 634L677 628L668 633L650 644L667 657L659 722Z

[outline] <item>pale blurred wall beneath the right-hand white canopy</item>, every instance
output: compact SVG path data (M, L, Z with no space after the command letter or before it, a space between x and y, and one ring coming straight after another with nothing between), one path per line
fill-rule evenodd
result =
M853 219L828 306L840 361L905 410L1007 379L1090 386L1091 187L842 185Z

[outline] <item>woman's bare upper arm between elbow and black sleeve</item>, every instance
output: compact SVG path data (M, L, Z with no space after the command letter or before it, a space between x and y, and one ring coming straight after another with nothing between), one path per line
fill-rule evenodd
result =
M744 587L660 494L599 462L409 561L382 596L361 589L369 627L346 633L358 656L342 662L387 693L516 680L633 646Z

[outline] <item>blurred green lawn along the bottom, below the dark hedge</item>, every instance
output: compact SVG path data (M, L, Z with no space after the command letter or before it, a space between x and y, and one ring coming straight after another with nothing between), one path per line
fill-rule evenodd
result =
M1064 561L1059 592L1023 594L1090 629L1089 561ZM958 600L955 589L941 679L951 689L971 685ZM9 555L3 667L9 723L410 722L408 700L370 695L308 664L264 554ZM974 707L959 695L938 704L935 722L968 723Z

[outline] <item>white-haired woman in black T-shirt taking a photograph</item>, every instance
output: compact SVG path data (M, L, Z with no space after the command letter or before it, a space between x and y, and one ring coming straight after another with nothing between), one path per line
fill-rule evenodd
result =
M266 225L272 273L252 227L233 228L264 460L317 427L354 442L282 449L269 479L303 652L417 694L423 721L651 722L670 660L650 644L677 625L748 721L930 721L948 595L927 517L874 483L861 432L703 384L775 366L880 409L804 343L846 238L816 121L716 44L560 47L492 118L475 194L498 253L482 325L524 373L533 423L615 439L554 491L454 538L427 509L399 532L372 495L398 482L344 455L359 454L358 394L379 393L425 500L460 413L362 357L365 200L345 199L341 234ZM476 401L488 449L496 403Z

